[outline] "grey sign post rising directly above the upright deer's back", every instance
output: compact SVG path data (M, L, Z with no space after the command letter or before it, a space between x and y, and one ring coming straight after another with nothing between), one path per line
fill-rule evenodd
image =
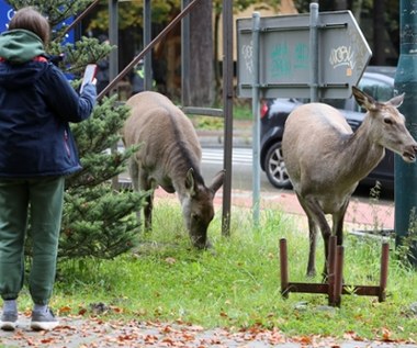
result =
M309 79L309 101L318 101L318 3L309 4L309 52L311 52L311 68L312 74Z

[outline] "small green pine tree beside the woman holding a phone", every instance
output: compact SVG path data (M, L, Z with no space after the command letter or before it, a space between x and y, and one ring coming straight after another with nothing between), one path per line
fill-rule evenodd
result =
M76 18L91 0L10 0L15 10L33 5L48 16L53 27L47 53L64 55L59 61L64 72L74 76L72 86L79 88L87 64L105 58L112 49L97 38L81 37L65 43L66 22ZM61 258L113 258L129 250L138 240L138 223L133 213L144 204L147 194L114 190L111 179L126 170L127 159L137 150L109 151L121 139L120 130L128 115L117 105L117 96L98 102L89 120L71 124L83 169L67 178L61 237L58 256ZM27 248L30 254L30 247Z

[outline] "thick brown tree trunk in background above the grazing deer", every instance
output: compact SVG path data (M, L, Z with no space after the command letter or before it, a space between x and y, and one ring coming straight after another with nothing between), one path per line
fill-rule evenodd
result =
M213 102L212 1L201 0L190 16L190 99L193 106Z

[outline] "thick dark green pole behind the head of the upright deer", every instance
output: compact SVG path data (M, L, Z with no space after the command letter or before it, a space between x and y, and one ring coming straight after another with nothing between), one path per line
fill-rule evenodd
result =
M401 0L401 44L399 59L395 74L395 89L405 92L401 106L406 125L414 138L417 138L417 0ZM406 164L395 155L394 159L394 199L396 244L409 234L410 218L417 206L417 166ZM414 248L414 263L417 266L417 248Z

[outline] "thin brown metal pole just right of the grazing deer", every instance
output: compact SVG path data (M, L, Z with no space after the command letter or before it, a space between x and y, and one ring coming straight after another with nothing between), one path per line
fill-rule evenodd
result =
M223 166L222 234L230 235L232 153L233 153L233 1L223 0L223 110L225 117L225 147Z

